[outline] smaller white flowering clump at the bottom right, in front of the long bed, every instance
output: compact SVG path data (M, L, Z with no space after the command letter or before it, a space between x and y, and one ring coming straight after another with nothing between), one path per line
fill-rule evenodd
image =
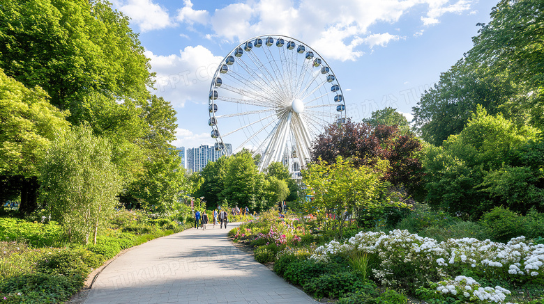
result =
M510 294L510 291L500 286L481 287L476 280L464 275L458 275L454 280L438 282L437 291L469 303L504 303L506 295Z

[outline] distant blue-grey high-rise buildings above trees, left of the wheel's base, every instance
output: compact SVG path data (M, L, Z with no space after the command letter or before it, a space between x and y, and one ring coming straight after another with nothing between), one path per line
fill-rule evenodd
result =
M185 147L178 147L176 150L179 150L179 156L181 157L181 151L183 151L182 161L183 168L190 170L191 172L199 172L209 161L217 161L222 157L225 152L223 150L216 151L216 148L209 145L200 145L200 147L190 147L186 149ZM225 150L229 154L232 154L232 145L225 143Z

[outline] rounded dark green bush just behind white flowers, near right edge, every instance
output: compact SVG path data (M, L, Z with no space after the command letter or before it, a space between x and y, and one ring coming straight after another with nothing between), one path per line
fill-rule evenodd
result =
M481 225L492 241L506 243L524 235L523 217L503 207L494 207L481 218Z

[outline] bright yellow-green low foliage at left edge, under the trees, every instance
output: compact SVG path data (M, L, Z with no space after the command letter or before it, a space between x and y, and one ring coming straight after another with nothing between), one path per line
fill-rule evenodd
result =
M36 247L61 243L62 227L56 222L29 223L17 218L0 218L0 241L21 241Z

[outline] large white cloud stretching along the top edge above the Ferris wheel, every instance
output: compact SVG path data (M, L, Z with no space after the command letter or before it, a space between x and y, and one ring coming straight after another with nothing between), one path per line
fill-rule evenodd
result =
M331 4L328 0L301 0L294 4L290 0L246 0L215 10L211 27L213 37L230 43L266 33L282 34L308 43L327 59L355 61L365 54L363 44L385 47L391 40L402 38L390 33L372 34L371 26L395 24L416 9L423 25L437 24L446 13L470 10L472 1L345 0Z

